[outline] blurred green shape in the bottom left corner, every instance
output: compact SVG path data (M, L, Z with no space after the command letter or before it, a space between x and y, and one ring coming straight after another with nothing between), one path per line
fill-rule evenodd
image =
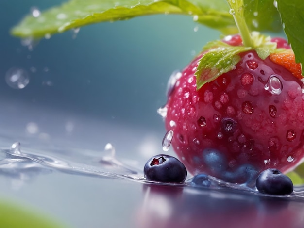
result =
M5 228L64 228L48 217L15 203L0 201L0 226Z

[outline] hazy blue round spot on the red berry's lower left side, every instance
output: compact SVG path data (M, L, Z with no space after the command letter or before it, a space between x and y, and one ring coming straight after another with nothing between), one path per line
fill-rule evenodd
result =
M214 175L224 172L228 167L226 156L217 149L204 149L203 160Z

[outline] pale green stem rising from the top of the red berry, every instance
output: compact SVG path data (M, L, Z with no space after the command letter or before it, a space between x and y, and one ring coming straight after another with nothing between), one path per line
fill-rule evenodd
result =
M249 29L247 27L244 17L244 2L243 0L227 0L230 7L230 14L235 19L236 26L242 37L243 44L246 47L253 47L253 40L251 38Z

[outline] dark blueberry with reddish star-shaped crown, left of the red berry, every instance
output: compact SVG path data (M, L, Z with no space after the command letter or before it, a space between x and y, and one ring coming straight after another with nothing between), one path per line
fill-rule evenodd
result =
M187 176L187 170L177 158L159 154L153 156L144 167L144 175L148 180L165 183L182 183Z

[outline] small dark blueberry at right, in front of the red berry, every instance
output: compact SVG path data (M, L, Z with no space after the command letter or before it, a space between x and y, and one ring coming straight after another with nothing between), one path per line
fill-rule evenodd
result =
M261 193L285 195L293 192L290 178L277 169L266 169L256 179L256 188Z

